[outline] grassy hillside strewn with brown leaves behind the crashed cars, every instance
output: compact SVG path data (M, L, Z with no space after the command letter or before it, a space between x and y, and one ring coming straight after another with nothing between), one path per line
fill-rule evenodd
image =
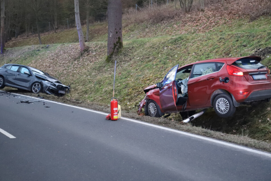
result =
M176 64L259 55L263 58L262 64L271 69L270 16L251 19L242 15L240 5L233 3L227 7L215 4L206 7L204 12L195 9L183 14L172 4L123 15L124 48L115 58L115 96L124 116L271 151L270 102L240 106L234 117L228 119L217 117L209 109L188 125L181 122L179 114L168 118L136 114L137 104L144 98L143 89L162 80ZM86 43L89 50L83 55L76 43L76 28L44 33L43 45L38 45L36 35L21 36L6 43L0 65L18 63L46 71L70 85L71 92L60 98L44 97L109 112L114 63L105 62L107 23L93 24L90 35L91 40ZM19 92L8 87L5 90Z

